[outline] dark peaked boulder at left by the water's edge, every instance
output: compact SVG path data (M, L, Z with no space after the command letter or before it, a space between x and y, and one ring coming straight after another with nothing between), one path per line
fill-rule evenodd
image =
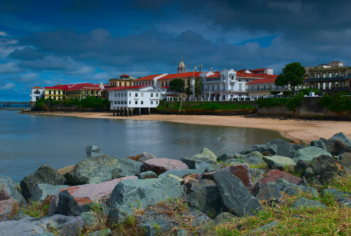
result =
M30 199L36 184L62 185L65 178L55 169L41 165L33 174L25 176L20 183L25 199Z

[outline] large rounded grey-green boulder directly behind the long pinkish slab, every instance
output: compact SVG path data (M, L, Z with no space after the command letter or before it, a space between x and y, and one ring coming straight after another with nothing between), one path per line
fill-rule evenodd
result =
M75 184L95 184L142 172L143 163L110 155L85 158L77 163L71 178Z

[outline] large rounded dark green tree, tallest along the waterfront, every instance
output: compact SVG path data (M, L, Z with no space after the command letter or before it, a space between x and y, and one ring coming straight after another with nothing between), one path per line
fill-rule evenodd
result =
M292 95L295 91L295 86L301 85L304 82L304 74L306 74L305 67L300 63L294 62L285 65L285 68L282 70L283 73L280 73L275 79L274 84L276 86L288 86L291 90Z

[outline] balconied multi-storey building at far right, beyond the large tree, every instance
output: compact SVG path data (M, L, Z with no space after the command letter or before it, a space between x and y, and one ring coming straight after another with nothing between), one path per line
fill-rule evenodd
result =
M351 91L351 67L344 66L343 62L331 62L305 68L307 68L307 78L304 82L308 88L318 88L320 94Z

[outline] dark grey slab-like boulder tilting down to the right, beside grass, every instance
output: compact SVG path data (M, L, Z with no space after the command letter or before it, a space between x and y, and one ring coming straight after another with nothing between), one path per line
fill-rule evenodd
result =
M219 187L223 204L235 215L251 215L261 208L258 199L251 195L238 177L221 171L214 173L213 178Z

